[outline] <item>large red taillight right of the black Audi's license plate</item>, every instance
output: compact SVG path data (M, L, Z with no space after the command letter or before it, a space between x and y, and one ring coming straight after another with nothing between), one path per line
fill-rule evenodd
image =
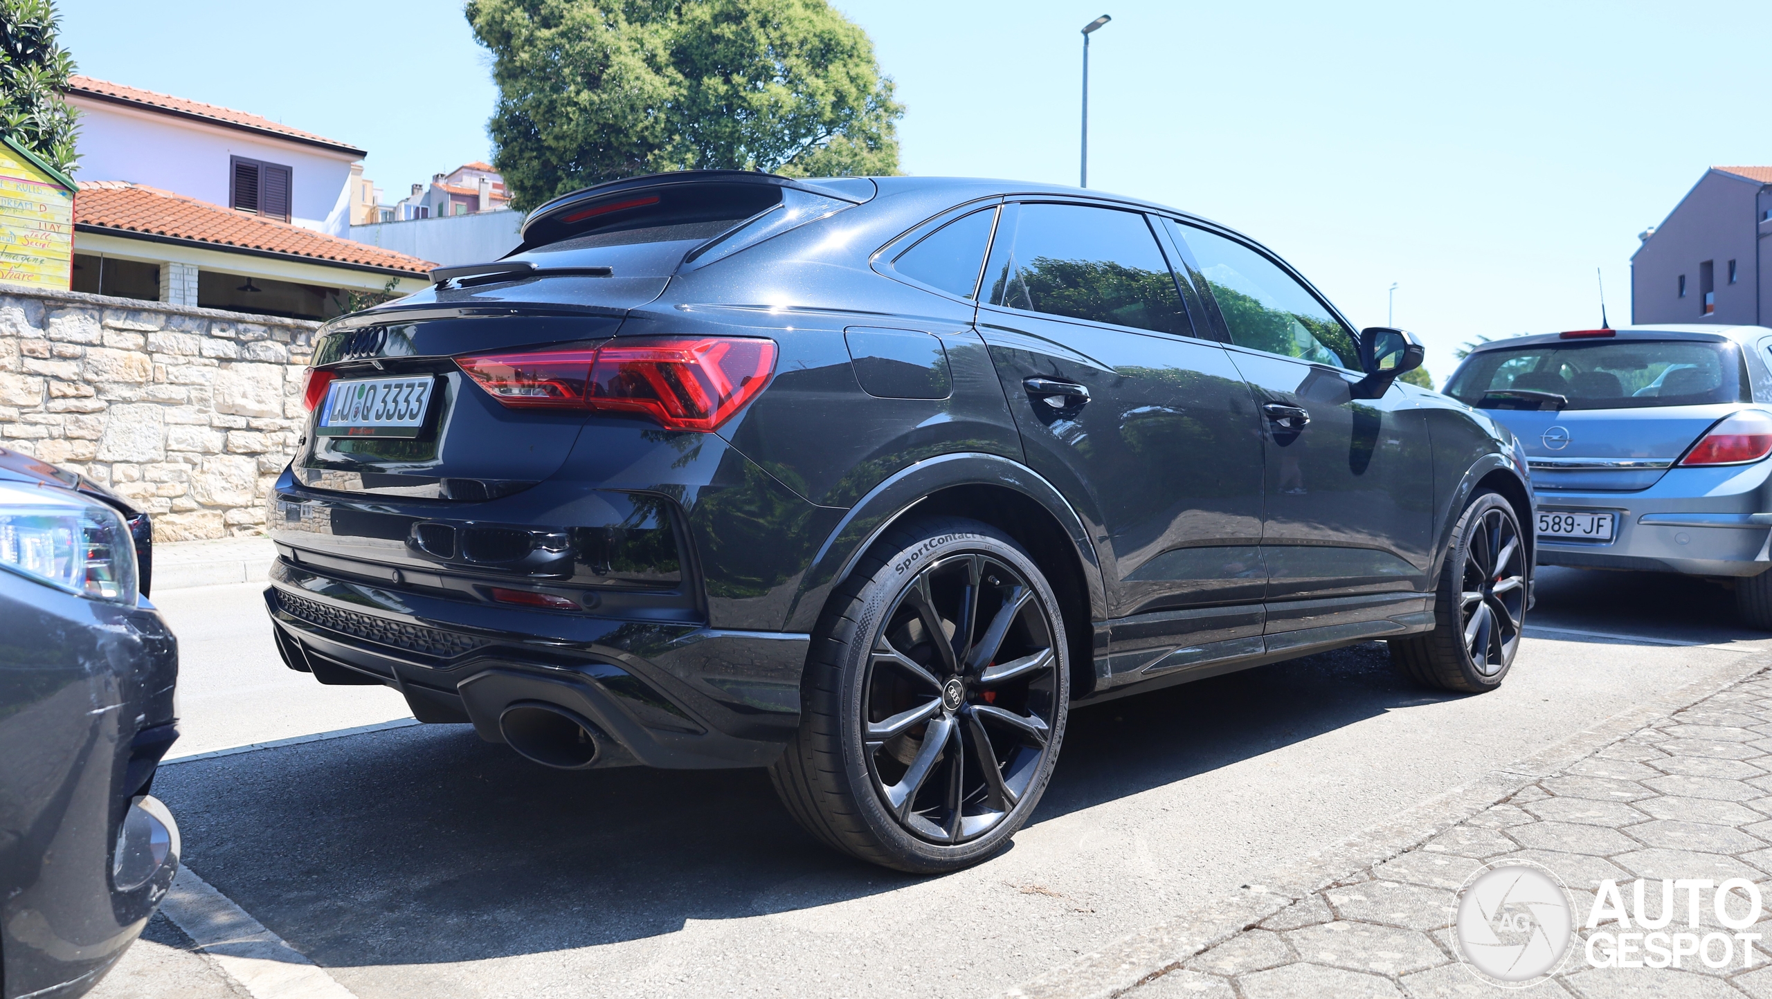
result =
M712 430L764 390L774 358L774 340L647 337L455 363L512 409L629 411L668 430Z

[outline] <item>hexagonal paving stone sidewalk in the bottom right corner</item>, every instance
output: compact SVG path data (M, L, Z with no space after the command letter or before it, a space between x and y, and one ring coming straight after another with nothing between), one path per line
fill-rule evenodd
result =
M1577 926L1605 879L1742 877L1772 907L1772 675L1758 673L1614 742L1421 847L1317 891L1175 971L1134 999L1499 997L1460 967L1451 937L1457 889L1496 861L1533 861L1568 886ZM1652 880L1653 886L1653 880ZM1655 886L1659 889L1659 886ZM1726 930L1705 896L1699 933L1758 932L1753 967L1740 955L1710 969L1595 969L1577 928L1561 971L1522 995L1582 999L1753 995L1772 999L1772 918ZM1648 909L1660 900L1652 891ZM1745 902L1737 902L1738 910ZM1669 932L1685 928L1685 894ZM1618 930L1600 923L1595 932ZM1641 930L1641 928L1637 928ZM1602 951L1604 953L1604 951Z

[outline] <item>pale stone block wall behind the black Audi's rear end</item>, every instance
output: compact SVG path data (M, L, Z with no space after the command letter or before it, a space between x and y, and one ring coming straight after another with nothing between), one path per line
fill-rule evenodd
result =
M0 446L82 471L156 540L264 528L301 436L319 322L80 292L0 290Z

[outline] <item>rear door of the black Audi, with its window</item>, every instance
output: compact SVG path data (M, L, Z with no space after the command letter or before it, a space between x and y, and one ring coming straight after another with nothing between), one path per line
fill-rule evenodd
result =
M980 299L1028 464L1095 535L1115 618L1099 685L1258 654L1260 420L1223 345L1194 335L1146 216L1010 202Z

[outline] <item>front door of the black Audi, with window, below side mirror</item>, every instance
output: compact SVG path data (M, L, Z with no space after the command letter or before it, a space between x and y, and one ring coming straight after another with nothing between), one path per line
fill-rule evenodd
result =
M1267 253L1164 221L1263 416L1267 634L1425 606L1434 461L1411 390L1389 384L1363 399L1357 337L1340 314Z

